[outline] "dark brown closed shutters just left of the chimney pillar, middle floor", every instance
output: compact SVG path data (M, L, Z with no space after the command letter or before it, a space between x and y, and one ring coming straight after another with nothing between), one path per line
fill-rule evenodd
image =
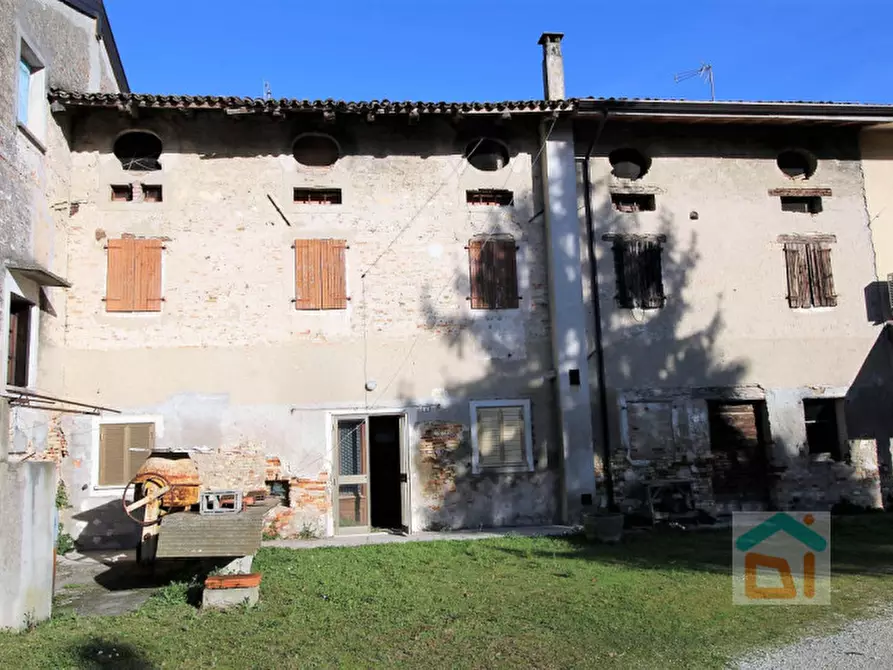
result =
M517 309L518 267L515 240L488 236L468 243L472 309Z

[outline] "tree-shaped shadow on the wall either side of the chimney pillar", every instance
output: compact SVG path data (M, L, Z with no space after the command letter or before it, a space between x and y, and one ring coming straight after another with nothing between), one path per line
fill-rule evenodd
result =
M607 184L594 191L604 192ZM516 194L516 200L519 200ZM525 200L522 197L520 200ZM528 525L559 520L559 473L561 460L554 416L555 377L558 366L549 344L549 295L546 275L546 232L542 215L513 216L507 230L499 213L488 217L480 232L515 235L518 243L518 310L471 310L468 266L456 268L449 294L455 304L438 299L438 287L422 287L420 302L425 314L424 329L429 337L439 338L451 352L451 360L473 361L477 372L472 379L461 378L443 366L444 401L436 412L420 415L420 449L413 454L415 470L420 473L428 509L429 528L486 527ZM585 214L579 203L581 220ZM723 331L725 296L717 292L712 304L693 304L686 289L701 254L698 237L692 233L680 239L673 215L660 209L655 213L621 213L610 202L601 203L592 213L597 249L597 283L601 305L602 339L607 380L609 422L612 448L619 451L616 426L617 391L635 388L674 389L686 387L729 387L738 384L746 367L743 362L720 355L718 340ZM582 224L581 224L582 229ZM647 310L632 318L629 310L614 305L615 268L611 242L605 234L657 234L665 236L662 265L666 302L661 309ZM588 305L584 332L566 334L568 342L585 347L589 356L590 382L596 374L592 300L589 297L589 265L586 237L582 258L572 240L559 241L560 258L552 273L559 291L572 291L584 285ZM744 279L742 278L742 281ZM576 288L579 290L579 288ZM461 303L459 302L461 300ZM694 317L694 318L692 318ZM412 356L412 352L408 357ZM413 361L425 365L425 361ZM467 366L466 366L467 369ZM585 377L584 377L585 379ZM409 383L398 387L399 397L412 404ZM472 472L469 401L527 398L532 404L533 472ZM572 402L572 401L570 401ZM604 440L598 419L598 398L593 392L592 412L596 452L602 454ZM570 409L573 409L572 407ZM459 427L463 429L459 431ZM678 447L678 461L688 466L685 449ZM674 447L671 447L674 448ZM594 454L595 456L595 454ZM616 460L615 455L614 459ZM594 458L604 491L602 459ZM708 464L698 463L709 468ZM642 473L644 476L644 473ZM623 482L620 482L622 485Z

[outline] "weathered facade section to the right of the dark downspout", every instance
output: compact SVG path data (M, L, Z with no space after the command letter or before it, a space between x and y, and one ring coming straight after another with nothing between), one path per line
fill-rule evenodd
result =
M884 410L856 384L878 338L858 131L839 118L767 119L771 106L723 125L711 123L719 109L677 107L644 123L623 110L605 121L595 104L577 124L617 503L650 513L690 494L712 513L881 507L889 442L867 427ZM640 177L617 176L624 151L644 159ZM784 172L791 153L806 174ZM659 249L654 304L621 304L618 253L633 240ZM828 286L809 260L794 295L792 255L820 248ZM597 356L592 366L596 378Z

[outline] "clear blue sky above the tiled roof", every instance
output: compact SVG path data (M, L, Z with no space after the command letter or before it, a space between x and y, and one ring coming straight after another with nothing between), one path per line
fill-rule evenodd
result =
M890 0L106 0L131 89L348 100L568 96L893 103Z

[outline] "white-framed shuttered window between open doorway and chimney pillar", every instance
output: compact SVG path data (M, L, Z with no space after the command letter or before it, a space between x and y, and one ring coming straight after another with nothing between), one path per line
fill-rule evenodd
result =
M477 400L471 407L472 472L530 472L530 400Z

